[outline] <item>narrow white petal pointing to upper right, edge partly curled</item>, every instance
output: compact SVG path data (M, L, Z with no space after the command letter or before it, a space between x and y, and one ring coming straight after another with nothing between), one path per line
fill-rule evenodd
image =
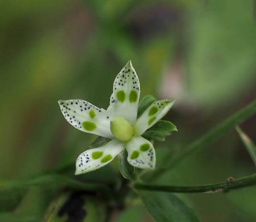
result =
M136 121L135 134L142 135L147 129L156 124L166 115L173 104L174 100L172 99L153 102Z

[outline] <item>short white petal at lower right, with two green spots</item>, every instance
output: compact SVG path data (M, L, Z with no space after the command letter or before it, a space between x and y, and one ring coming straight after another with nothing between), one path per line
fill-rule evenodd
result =
M141 136L133 137L133 139L126 144L126 150L128 152L127 161L131 165L143 169L155 169L155 149L151 142L145 138Z

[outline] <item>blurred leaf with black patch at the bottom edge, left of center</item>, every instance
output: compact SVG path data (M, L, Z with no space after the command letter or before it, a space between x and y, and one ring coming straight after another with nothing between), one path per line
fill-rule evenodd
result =
M104 222L107 206L85 192L62 193L49 206L44 222Z

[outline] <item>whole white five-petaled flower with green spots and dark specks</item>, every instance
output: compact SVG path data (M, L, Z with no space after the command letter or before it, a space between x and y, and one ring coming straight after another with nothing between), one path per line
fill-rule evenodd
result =
M83 100L59 101L65 119L76 129L112 139L81 153L76 160L76 175L105 166L124 149L131 165L155 169L154 147L141 135L171 109L174 100L153 102L137 119L139 94L139 79L129 61L117 74L107 110Z

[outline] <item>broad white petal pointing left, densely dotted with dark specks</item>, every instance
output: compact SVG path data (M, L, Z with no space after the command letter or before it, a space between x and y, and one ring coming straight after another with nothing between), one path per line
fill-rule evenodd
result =
M112 139L107 111L83 100L58 101L65 119L76 129Z

